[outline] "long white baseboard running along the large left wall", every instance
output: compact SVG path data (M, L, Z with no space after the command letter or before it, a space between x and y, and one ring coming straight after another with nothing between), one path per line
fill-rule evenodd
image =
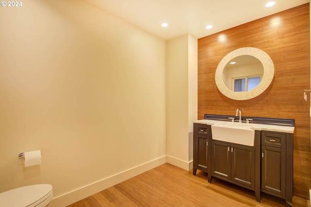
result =
M136 175L144 173L148 170L151 170L161 164L166 163L167 156L160 157L158 159L154 159L152 161L146 162L139 166L128 169L124 172L121 172L116 175L112 175L110 177L106 177L97 182L91 183L82 188L76 189L74 191L70 191L63 195L56 196L52 199L49 207L66 207L72 203L80 201L90 195L93 195L97 192L103 191L107 188L110 188L118 183L123 182L129 178L132 178Z

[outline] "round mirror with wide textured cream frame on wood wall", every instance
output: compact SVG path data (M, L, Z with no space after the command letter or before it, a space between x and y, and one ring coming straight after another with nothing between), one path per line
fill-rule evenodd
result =
M219 91L235 100L247 100L264 92L274 77L270 56L258 48L239 48L218 64L215 81Z

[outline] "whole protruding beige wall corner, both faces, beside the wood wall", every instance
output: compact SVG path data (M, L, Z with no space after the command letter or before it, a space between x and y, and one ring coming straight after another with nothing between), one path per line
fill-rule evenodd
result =
M167 162L192 168L193 120L197 119L197 39L167 43Z

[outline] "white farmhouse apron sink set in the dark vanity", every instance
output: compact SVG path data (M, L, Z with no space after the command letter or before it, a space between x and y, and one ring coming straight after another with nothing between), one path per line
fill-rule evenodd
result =
M212 139L254 146L255 130L242 123L216 123L211 126Z

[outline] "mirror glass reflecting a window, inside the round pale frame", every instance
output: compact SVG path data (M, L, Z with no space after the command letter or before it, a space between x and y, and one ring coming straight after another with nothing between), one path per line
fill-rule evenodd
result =
M259 85L262 75L263 66L257 58L240 55L225 65L223 81L231 91L247 92Z

